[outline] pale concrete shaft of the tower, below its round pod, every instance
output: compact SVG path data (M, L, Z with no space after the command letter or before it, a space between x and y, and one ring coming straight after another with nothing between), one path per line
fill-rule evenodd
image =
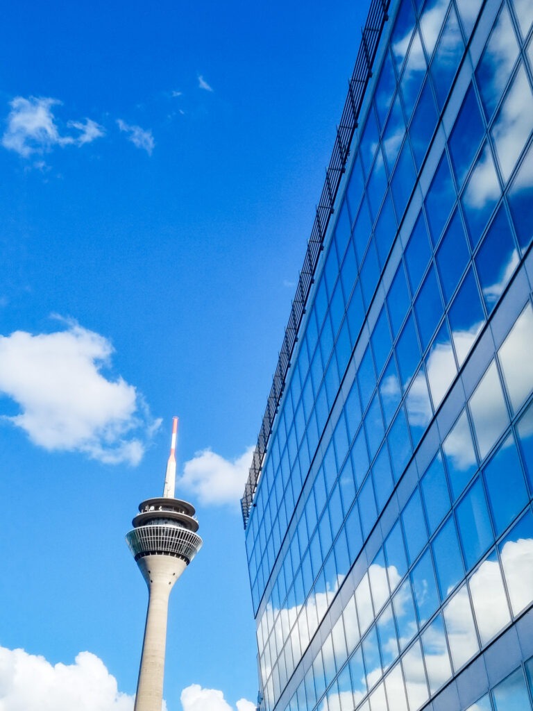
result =
M146 555L137 565L148 585L149 601L134 711L161 711L168 597L187 564L170 555Z

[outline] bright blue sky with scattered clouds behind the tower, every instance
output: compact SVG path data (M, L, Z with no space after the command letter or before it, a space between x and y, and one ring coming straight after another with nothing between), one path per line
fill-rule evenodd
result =
M4 8L5 711L131 709L146 587L124 535L173 415L205 545L171 599L168 709L255 700L238 498L366 10Z

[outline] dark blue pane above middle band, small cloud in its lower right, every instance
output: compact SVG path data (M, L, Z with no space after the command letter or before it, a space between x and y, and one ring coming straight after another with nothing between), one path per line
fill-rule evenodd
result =
M518 266L518 261L518 250L507 220L507 211L505 205L500 205L483 245L475 257L483 299L489 314L500 299Z

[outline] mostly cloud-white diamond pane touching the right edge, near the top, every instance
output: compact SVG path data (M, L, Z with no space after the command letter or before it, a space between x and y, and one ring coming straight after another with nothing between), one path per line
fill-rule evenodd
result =
M505 182L533 129L533 95L524 65L519 67L490 132Z

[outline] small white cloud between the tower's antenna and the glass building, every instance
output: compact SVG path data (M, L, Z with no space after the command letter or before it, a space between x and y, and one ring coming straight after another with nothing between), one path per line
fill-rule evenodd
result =
M248 478L254 447L237 459L224 459L212 449L198 451L183 465L178 484L194 493L203 504L237 504Z

